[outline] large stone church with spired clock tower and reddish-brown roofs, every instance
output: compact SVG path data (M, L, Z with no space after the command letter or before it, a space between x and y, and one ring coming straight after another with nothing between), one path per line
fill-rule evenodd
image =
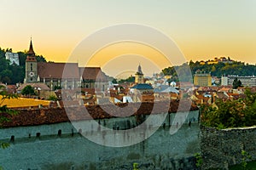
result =
M38 62L32 40L26 57L26 78L24 83L41 82L51 90L57 88L108 89L108 76L101 67L79 67L78 63Z

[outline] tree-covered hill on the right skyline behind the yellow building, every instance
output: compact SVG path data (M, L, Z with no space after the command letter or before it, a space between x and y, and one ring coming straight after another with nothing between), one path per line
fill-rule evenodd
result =
M232 63L219 62L218 64L201 65L199 61L193 62L191 60L189 63L168 67L162 71L165 75L172 75L173 81L178 81L176 70L182 70L183 66L185 65L189 65L192 75L195 74L195 71L205 71L207 73L211 72L212 77L221 77L222 75L256 76L256 65L248 65L241 61L232 61Z

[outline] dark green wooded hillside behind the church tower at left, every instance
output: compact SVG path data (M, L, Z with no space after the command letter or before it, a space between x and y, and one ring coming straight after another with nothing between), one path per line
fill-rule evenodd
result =
M5 53L12 52L11 48L0 48L0 82L7 84L15 84L23 82L25 78L26 51L18 52L20 65L10 64L8 59L5 59ZM46 62L44 56L36 55L38 61Z

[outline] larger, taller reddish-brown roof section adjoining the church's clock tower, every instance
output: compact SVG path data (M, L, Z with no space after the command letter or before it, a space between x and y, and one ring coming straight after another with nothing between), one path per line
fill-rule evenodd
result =
M40 78L58 78L58 79L75 78L75 79L79 79L79 65L78 65L78 63L39 62L38 63L38 76Z

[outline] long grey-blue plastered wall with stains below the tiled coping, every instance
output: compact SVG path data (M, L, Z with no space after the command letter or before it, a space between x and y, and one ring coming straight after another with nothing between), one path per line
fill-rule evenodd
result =
M154 115L154 119L157 120L157 116L160 115ZM1 150L1 166L10 170L132 169L132 164L137 162L140 169L194 169L193 156L199 152L199 126L196 122L198 111L191 111L187 116L186 122L195 120L191 126L184 123L183 127L172 135L168 117L166 116L166 126L160 127L148 139L139 144L120 148L91 142L79 135L70 122L3 128L0 129L0 140L10 141L11 136L15 136L15 140L9 148ZM170 117L172 124L174 115ZM101 123L104 120L107 127L113 127L117 122L124 120L135 121L132 116L101 119ZM84 122L90 125L90 121L94 120ZM99 135L94 128L84 129L88 131L83 131L86 135ZM61 135L57 135L59 130ZM40 137L36 137L36 133L40 133ZM116 133L116 138L123 139L122 135L124 134ZM115 141L116 139L113 139L113 142Z

